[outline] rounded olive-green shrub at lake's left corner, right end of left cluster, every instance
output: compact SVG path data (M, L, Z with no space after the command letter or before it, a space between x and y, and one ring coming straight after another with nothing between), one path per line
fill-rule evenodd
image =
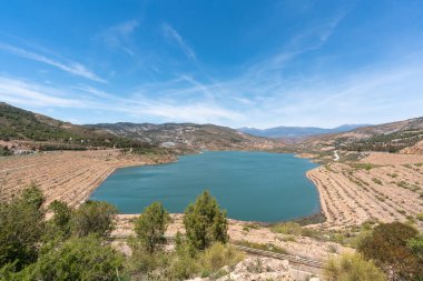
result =
M95 233L99 237L108 237L115 224L116 207L107 202L87 201L77 209L72 215L72 233L86 237Z

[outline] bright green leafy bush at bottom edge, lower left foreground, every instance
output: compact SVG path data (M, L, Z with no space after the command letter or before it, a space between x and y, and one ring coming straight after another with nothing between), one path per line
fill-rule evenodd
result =
M72 237L24 270L28 280L118 280L122 257L94 234Z

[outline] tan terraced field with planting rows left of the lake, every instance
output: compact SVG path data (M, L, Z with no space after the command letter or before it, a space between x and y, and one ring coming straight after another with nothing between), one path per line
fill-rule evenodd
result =
M119 150L66 151L1 158L0 198L10 199L35 182L46 195L46 205L57 199L76 207L117 168L171 160L127 155Z

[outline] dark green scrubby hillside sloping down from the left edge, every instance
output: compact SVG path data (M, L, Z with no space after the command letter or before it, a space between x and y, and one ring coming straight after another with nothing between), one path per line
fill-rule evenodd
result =
M142 147L110 132L71 124L0 102L0 140L41 150L83 150L89 147Z

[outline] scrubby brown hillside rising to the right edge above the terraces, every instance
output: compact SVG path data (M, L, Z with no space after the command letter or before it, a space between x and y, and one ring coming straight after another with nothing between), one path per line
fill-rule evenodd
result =
M306 138L299 147L314 151L386 151L421 153L423 118Z

